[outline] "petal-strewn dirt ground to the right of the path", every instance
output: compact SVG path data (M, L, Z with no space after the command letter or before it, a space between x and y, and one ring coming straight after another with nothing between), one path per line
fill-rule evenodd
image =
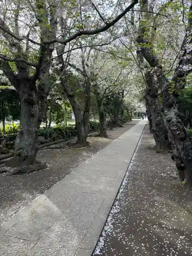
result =
M93 255L192 255L192 192L145 127Z

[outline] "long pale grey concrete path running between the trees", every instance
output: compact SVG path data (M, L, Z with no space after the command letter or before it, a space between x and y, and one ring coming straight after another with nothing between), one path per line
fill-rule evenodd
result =
M4 223L0 255L90 256L145 123L137 123Z

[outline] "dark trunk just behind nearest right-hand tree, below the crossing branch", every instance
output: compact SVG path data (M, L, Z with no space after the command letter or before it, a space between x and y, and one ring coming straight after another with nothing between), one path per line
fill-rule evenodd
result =
M145 98L148 103L148 109L151 113L152 132L156 143L157 152L165 152L168 150L168 135L161 108L158 100L158 83L156 76L153 72L148 71L145 73L145 80L147 88L145 90Z

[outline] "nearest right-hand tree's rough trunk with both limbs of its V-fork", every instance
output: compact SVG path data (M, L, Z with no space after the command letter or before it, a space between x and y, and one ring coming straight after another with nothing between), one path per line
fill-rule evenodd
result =
M141 9L145 8L141 2ZM147 38L144 38L144 33L140 33L137 42L142 44L141 53L148 64L154 68L160 89L162 91L162 113L166 126L169 142L174 150L174 160L178 168L178 173L181 178L186 179L189 188L192 188L192 141L188 130L179 118L178 112L178 96L186 83L186 76L192 72L192 1L190 0L190 8L188 12L188 25L186 34L181 46L179 61L174 72L173 79L168 81L164 75L163 68L159 63L158 58L154 55L153 49L145 47L148 44Z

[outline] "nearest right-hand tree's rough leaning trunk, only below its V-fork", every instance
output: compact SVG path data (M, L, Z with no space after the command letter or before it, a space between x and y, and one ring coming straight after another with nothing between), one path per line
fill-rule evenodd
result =
M185 178L189 189L192 189L192 141L188 130L179 118L178 97L170 92L169 83L165 84L162 92L164 120L168 138L174 150L173 159L176 162L180 180Z

